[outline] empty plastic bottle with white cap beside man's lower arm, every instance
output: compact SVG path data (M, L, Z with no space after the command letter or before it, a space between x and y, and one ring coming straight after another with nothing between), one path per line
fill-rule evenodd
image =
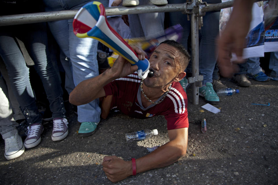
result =
M154 130L145 129L145 130L140 130L137 132L127 133L127 134L125 134L125 138L126 138L127 142L131 142L134 140L148 139L151 136L155 136L157 134L158 134L157 129L154 129Z

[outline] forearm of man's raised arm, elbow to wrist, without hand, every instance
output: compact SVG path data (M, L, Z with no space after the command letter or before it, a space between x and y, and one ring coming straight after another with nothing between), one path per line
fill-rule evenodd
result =
M69 102L74 105L83 105L93 101L96 98L105 96L101 92L103 87L116 79L111 75L110 70L83 82L80 82L69 95Z

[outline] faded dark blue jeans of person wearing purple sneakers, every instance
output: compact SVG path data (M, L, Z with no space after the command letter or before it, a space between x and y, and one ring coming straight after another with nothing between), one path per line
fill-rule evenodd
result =
M6 64L12 90L29 124L41 123L29 79L29 68L14 36L25 44L39 74L50 103L53 118L65 116L63 90L49 58L45 23L3 27L0 31L0 55Z

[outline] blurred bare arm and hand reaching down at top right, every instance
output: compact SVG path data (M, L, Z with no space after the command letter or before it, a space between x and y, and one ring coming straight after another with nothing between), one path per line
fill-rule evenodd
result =
M235 0L233 12L226 28L218 41L218 66L224 77L230 77L234 72L231 53L235 53L237 62L242 60L242 51L245 47L245 37L248 34L252 19L252 5L255 0Z

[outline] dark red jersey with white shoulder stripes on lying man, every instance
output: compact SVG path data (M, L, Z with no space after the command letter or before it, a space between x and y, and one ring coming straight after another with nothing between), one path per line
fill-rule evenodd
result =
M104 86L105 95L113 95L111 108L117 107L122 113L138 119L164 115L168 130L188 127L187 96L179 82L172 83L169 93L161 103L147 108L141 103L140 82L137 73L133 73Z

